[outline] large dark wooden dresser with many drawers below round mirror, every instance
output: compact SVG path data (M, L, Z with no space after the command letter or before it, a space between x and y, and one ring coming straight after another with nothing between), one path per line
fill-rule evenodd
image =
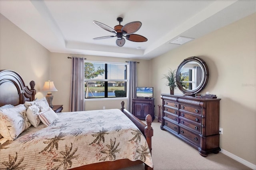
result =
M220 151L221 99L161 94L162 124L166 130L197 148L202 156Z

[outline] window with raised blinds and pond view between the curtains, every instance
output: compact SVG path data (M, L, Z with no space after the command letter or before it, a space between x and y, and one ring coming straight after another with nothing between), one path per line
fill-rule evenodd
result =
M126 63L85 62L85 99L126 97L126 70Z

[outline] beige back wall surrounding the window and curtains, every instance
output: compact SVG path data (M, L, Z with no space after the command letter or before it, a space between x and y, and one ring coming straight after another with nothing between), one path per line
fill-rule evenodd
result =
M150 86L150 60L141 59L127 59L118 57L102 57L92 55L79 55L79 54L66 54L66 53L51 53L50 67L51 67L51 81L54 81L55 87L58 91L53 92L54 99L53 105L64 105L63 111L69 111L69 96L70 96L70 80L71 80L71 66L72 60L67 57L84 57L87 61L106 61L106 62L125 62L125 61L138 61L138 86ZM122 99L125 102L126 99ZM86 100L86 110L103 109L119 109L121 107L120 99L102 99L102 100Z

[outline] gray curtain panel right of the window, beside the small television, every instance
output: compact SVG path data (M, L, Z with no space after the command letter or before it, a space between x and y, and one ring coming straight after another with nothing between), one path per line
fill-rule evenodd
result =
M137 62L128 62L128 93L127 110L132 113L132 99L135 98L137 87Z

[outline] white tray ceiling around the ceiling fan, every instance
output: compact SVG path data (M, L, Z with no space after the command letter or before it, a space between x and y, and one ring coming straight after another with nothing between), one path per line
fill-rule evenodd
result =
M256 12L256 0L0 0L0 13L51 52L151 59L177 36L199 38ZM147 42L116 45L111 28L140 21ZM137 49L140 47L140 49Z

